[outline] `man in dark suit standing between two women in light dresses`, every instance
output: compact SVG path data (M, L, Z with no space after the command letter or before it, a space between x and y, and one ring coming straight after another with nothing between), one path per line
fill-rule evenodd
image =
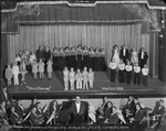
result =
M128 59L128 50L126 48L125 44L122 46L122 50L120 51L120 58L123 59L125 64L126 61Z

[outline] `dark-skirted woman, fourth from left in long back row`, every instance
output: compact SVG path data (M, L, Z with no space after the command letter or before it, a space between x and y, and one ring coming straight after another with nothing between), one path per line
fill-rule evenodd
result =
M74 46L71 47L71 66L74 70L76 69L76 51Z

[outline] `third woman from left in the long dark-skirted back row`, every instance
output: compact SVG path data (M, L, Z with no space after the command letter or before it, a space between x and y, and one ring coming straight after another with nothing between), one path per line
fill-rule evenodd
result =
M69 46L65 47L64 54L65 54L65 66L68 68L70 68L71 67L71 59L70 59L71 58L71 52L70 52Z

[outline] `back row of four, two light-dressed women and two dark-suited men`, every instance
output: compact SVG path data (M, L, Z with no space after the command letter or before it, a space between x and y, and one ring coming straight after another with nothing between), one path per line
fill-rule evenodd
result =
M143 68L144 65L147 64L148 54L145 52L144 47L141 47L139 52L137 52L135 48L128 51L125 44L122 45L121 50L117 45L114 45L111 59L114 59L116 65L120 64L121 59L125 65L127 64L127 61L129 61L133 65L138 63L141 68Z

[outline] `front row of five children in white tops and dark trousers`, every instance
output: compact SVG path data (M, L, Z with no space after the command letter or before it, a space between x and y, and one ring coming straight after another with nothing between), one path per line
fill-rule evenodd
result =
M148 78L148 67L145 64L142 68L136 62L134 65L131 64L129 61L127 61L126 65L123 62L123 59L120 61L118 64L116 64L115 59L113 58L108 65L111 70L111 81L115 83L115 78L118 75L118 81L131 84L132 76L134 85L141 85L141 81L144 86L147 86L147 78ZM141 79L142 78L142 79Z

